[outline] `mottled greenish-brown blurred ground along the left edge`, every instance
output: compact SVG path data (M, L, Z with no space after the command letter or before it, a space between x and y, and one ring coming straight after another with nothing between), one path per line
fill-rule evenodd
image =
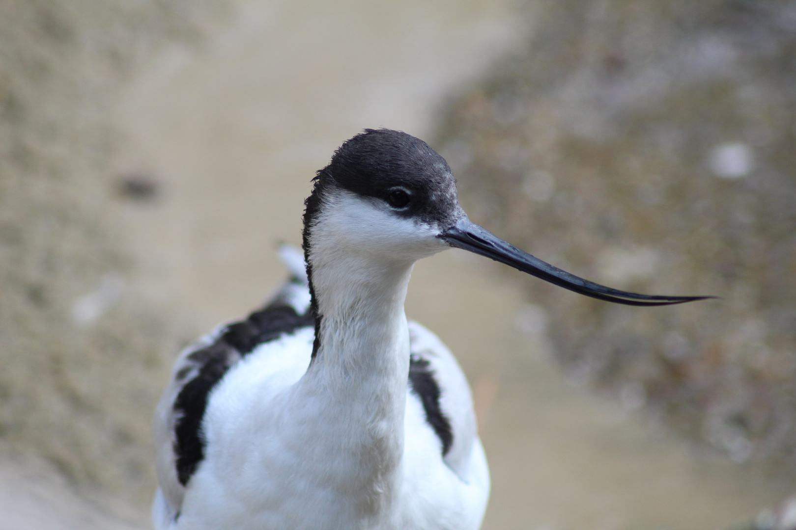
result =
M152 379L176 341L125 290L107 114L154 50L200 38L210 5L0 3L0 437L139 505L154 480Z

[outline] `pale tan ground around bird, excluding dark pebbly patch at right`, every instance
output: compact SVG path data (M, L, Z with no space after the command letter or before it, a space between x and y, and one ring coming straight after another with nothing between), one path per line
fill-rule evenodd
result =
M298 243L310 177L341 141L374 126L434 141L440 103L533 25L509 2L12 4L0 528L149 528L149 419L178 346L283 280L275 242ZM71 48L29 40L23 21L53 20ZM474 386L484 528L718 530L788 493L569 384L544 312L497 270L444 253L407 302Z

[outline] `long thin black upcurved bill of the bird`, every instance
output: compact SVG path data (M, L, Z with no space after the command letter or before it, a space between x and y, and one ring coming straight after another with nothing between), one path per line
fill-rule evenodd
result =
M443 239L450 246L490 257L494 261L505 263L505 265L521 270L523 273L529 273L537 278L549 281L551 284L556 284L570 291L579 292L582 295L591 296L598 300L615 302L616 304L671 305L716 298L716 296L640 295L635 292L619 291L605 285L595 284L593 281L583 280L583 278L576 277L574 274L567 273L531 256L524 250L509 245L509 243L488 230L484 230L466 217L459 219L454 226L451 226L451 228L445 230L437 237Z

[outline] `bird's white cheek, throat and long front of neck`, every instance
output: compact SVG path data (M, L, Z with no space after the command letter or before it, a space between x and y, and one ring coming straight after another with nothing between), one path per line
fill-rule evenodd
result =
M446 248L435 233L347 192L312 227L319 347L295 387L304 404L296 412L323 430L321 458L335 462L328 483L344 489L341 503L350 499L360 520L380 520L395 499L409 373L404 300L414 262Z

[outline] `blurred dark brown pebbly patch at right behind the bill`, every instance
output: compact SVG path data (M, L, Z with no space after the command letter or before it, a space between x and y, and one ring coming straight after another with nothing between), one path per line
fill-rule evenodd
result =
M617 288L517 276L573 381L736 461L796 466L796 2L537 0L533 38L451 101L476 222ZM522 319L528 320L523 324Z

